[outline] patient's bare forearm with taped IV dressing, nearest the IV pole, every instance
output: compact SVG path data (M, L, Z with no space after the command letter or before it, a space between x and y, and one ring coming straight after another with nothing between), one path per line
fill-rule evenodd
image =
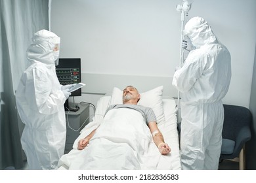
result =
M163 140L163 135L161 131L158 129L158 125L156 122L149 122L148 127L153 135L153 141L155 142L156 146L158 146L158 150L161 154L166 155L171 152L171 148L168 146L167 143Z

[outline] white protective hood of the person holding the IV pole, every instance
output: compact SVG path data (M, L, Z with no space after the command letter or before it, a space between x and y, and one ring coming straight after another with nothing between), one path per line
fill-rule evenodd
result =
M205 44L217 43L217 37L214 35L211 27L201 17L191 18L185 25L184 35L186 35L196 48Z

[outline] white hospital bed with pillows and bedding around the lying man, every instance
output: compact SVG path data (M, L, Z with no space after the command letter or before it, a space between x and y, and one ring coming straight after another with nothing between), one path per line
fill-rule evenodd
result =
M125 115L121 115L122 112L125 114L132 111L131 116L136 116L137 111L125 108L110 110L104 117L109 105L122 103L122 90L114 88L111 95L100 97L93 121L81 130L73 149L60 158L58 169L181 169L177 105L175 99L162 99L162 92L163 86L159 86L140 93L138 105L154 110L158 127L165 142L171 147L170 154L160 154L152 141L149 128L145 122L139 122L141 115L136 117L137 122L131 122ZM89 146L77 150L79 139L97 127Z

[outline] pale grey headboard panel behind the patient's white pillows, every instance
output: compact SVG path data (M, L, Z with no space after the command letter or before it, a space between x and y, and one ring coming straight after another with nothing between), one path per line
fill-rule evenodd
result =
M81 81L86 84L82 93L111 94L114 87L123 89L125 86L135 86L139 92L146 92L158 86L163 86L163 98L177 97L178 92L173 87L173 77L170 76L130 76L82 73Z

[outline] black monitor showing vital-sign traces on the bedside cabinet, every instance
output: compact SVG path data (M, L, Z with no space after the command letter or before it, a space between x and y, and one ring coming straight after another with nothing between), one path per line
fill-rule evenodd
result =
M81 82L81 59L59 58L56 75L62 85ZM72 92L70 96L81 96L81 88Z

